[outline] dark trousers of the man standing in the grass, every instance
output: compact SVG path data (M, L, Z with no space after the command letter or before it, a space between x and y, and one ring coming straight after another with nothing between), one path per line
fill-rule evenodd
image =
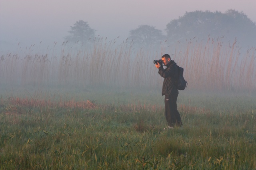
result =
M165 118L170 127L182 126L180 113L177 110L177 98L178 95L165 95L164 98Z

